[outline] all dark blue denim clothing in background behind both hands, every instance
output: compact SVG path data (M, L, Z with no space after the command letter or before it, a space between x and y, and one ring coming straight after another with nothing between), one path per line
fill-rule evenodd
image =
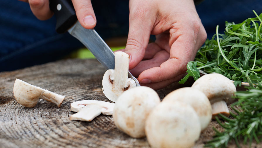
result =
M128 0L93 0L97 18L95 30L103 39L127 36L129 27ZM196 6L208 33L220 33L225 21L240 23L262 13L261 0L205 0ZM83 45L68 33L55 32L56 19L40 21L29 4L18 0L0 1L0 72L61 59Z

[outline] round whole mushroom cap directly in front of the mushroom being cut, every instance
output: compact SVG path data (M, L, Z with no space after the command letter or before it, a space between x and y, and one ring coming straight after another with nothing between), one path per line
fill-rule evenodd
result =
M151 110L160 103L158 94L146 86L124 91L115 103L114 123L121 131L135 138L145 136L145 120Z

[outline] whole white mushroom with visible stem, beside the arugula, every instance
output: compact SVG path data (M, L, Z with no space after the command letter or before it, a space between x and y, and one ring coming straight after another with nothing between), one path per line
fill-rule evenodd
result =
M206 74L197 79L192 88L206 94L212 106L212 118L219 113L229 116L227 104L234 101L236 87L233 82L222 74Z

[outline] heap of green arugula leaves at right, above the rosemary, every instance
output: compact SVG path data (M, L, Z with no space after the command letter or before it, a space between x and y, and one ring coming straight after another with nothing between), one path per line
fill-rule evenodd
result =
M206 40L193 62L187 64L187 75L179 81L184 82L193 76L200 77L199 69L206 73L220 73L234 84L239 82L256 83L262 79L262 13L255 18L248 18L242 23L225 22L225 34L218 33L211 40ZM220 37L220 38L219 38Z

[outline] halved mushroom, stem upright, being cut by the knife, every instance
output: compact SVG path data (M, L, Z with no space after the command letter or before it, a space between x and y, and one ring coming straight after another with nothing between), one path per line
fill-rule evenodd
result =
M136 82L128 78L129 57L124 52L115 52L115 69L108 69L103 76L103 93L113 102L121 93L136 86Z

